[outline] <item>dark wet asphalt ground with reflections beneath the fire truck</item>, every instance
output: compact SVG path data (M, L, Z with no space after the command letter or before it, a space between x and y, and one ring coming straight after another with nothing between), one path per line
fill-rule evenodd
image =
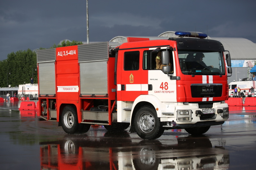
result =
M35 101L36 102L36 101ZM0 103L0 169L255 169L256 107L230 107L229 119L200 137L183 129L142 140L129 128L102 126L68 135L57 122L38 121L20 101Z

